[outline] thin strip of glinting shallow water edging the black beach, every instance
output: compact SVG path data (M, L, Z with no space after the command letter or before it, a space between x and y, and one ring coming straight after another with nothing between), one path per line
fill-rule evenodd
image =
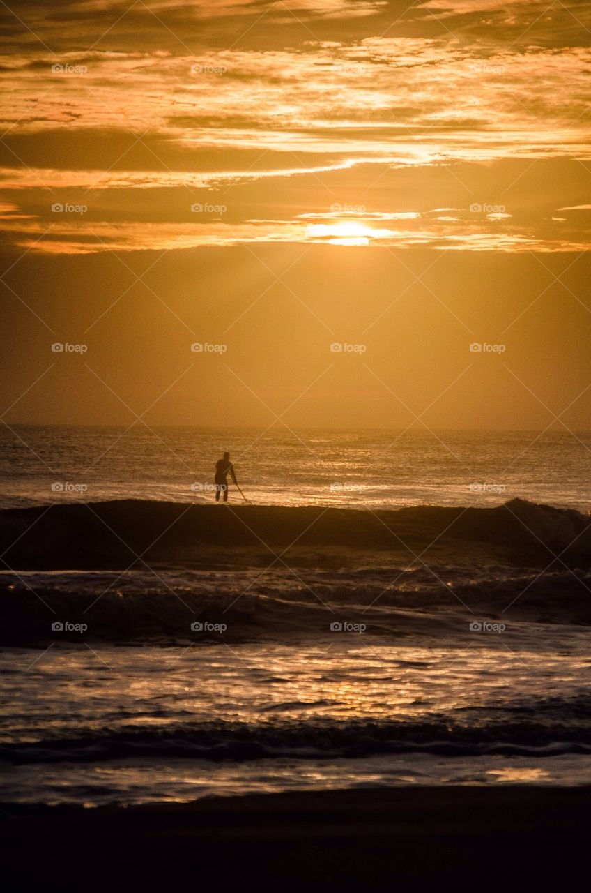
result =
M188 803L284 790L406 785L588 785L588 756L441 757L426 754L297 761L286 758L216 764L205 760L118 760L100 764L28 765L11 769L12 802L84 804ZM7 797L4 797L7 798Z

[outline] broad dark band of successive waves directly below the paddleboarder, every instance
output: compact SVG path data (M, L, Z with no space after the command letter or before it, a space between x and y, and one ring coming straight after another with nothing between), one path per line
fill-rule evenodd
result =
M506 623L509 608L512 622L588 625L590 524L519 500L379 513L136 501L9 510L0 641L448 638L469 622Z

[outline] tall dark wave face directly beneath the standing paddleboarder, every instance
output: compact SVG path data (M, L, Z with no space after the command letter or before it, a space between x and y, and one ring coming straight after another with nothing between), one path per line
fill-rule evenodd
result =
M513 499L494 508L414 506L362 511L273 505L187 505L149 500L46 505L0 512L0 549L13 568L107 568L146 562L198 563L274 548L318 547L410 554L437 538L437 554L459 547L523 563L591 558L591 518ZM343 561L343 555L338 556ZM127 561L127 564L125 562Z

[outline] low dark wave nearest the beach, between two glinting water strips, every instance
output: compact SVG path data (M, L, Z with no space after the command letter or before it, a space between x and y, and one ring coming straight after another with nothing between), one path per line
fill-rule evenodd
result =
M541 705L542 710L544 705ZM586 707L588 710L588 705ZM515 711L504 721L471 718L467 726L449 717L421 722L306 722L249 725L211 723L167 730L80 730L74 738L14 742L0 747L12 764L94 763L123 757L182 757L202 760L362 758L373 754L446 756L591 753L591 730L576 705L565 702L545 722ZM468 717L466 717L468 720Z

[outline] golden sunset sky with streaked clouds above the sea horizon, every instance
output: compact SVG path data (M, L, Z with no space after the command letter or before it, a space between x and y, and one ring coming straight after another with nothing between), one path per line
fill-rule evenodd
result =
M5 422L589 428L591 2L0 9Z

